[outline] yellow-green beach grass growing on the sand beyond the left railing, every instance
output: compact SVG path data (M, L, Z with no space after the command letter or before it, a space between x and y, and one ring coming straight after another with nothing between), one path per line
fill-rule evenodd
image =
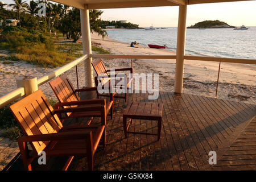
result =
M92 50L98 54L109 54L103 48L93 46ZM66 44L36 44L16 48L8 57L9 60L26 61L44 68L61 67L82 56L82 45L75 43Z

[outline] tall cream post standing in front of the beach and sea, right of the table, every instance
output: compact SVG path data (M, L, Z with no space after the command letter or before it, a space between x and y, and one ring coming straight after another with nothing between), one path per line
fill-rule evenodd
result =
M179 6L179 23L177 28L176 69L175 69L175 83L174 83L175 93L182 93L183 91L186 19L187 19L187 5L180 5Z

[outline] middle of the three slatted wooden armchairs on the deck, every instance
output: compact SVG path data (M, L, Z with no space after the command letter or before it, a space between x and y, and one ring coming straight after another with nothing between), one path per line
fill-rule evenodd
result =
M102 124L106 125L106 117L104 118L104 114L102 114L104 112L105 115L110 115L113 119L113 94L110 94L109 101L105 101L104 99L81 100L77 93L97 90L97 87L75 89L66 74L50 81L49 85L59 100L59 103L55 105L55 109L58 109L60 112L61 108L69 110L68 113L65 113L64 117L58 113L61 121L65 118L91 117L88 122L89 125L93 117L101 117ZM97 105L102 104L105 105L104 110L95 110ZM77 112L78 110L79 112Z

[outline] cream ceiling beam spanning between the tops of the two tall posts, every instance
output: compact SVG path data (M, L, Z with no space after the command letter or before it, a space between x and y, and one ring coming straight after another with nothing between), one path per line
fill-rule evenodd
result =
M156 7L156 6L177 6L170 1L123 1L109 3L88 3L88 9L115 9L115 8L131 8L131 7Z

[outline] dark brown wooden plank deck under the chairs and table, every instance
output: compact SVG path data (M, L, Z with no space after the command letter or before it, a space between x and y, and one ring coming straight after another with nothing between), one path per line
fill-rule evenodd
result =
M128 102L162 102L160 141L157 136L123 133L122 111ZM256 108L243 102L191 94L160 92L158 100L147 94L115 99L114 119L107 127L106 148L98 148L95 170L225 170L256 169ZM253 119L254 118L254 119ZM108 117L108 119L110 119ZM94 123L99 122L96 118ZM68 121L82 123L83 121ZM67 123L68 123L67 122ZM157 133L157 122L135 119L130 131ZM217 165L209 165L209 151L217 152ZM60 169L65 158L35 162L32 169ZM20 156L7 166L22 170ZM87 170L85 158L73 159L69 170Z

